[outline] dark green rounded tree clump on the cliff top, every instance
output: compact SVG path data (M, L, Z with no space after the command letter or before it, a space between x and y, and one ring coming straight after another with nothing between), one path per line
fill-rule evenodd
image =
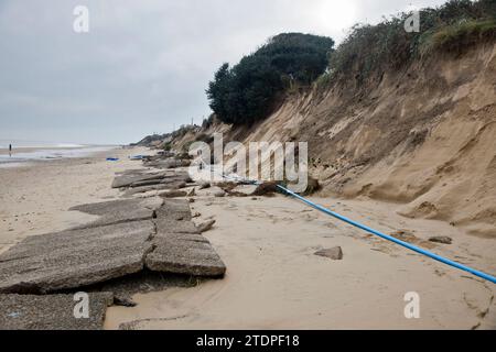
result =
M220 66L206 90L212 110L226 123L266 118L280 94L310 85L325 72L333 46L332 38L311 34L271 37L234 67Z

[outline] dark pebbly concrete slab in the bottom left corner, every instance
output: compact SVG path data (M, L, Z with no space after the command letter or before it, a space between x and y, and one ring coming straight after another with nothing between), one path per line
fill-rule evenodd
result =
M88 318L77 319L74 295L0 295L0 330L101 330L112 297L88 294Z

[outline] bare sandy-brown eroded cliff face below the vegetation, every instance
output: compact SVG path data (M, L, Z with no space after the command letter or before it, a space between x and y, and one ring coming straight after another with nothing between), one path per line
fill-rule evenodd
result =
M496 238L496 45L443 54L360 86L336 82L288 96L228 139L309 142L325 195L398 202L406 217L439 219Z

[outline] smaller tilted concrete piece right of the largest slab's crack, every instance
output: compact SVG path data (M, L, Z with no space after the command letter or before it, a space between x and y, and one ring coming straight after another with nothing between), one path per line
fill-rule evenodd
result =
M160 233L153 239L155 249L147 255L151 271L194 276L219 277L226 265L208 241L197 234ZM206 239L205 239L206 240Z

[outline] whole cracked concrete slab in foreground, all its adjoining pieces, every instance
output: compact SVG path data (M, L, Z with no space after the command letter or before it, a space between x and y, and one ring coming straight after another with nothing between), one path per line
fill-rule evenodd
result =
M123 199L73 210L89 224L30 237L0 255L0 294L48 294L108 282L144 267L223 276L226 267L183 199Z

